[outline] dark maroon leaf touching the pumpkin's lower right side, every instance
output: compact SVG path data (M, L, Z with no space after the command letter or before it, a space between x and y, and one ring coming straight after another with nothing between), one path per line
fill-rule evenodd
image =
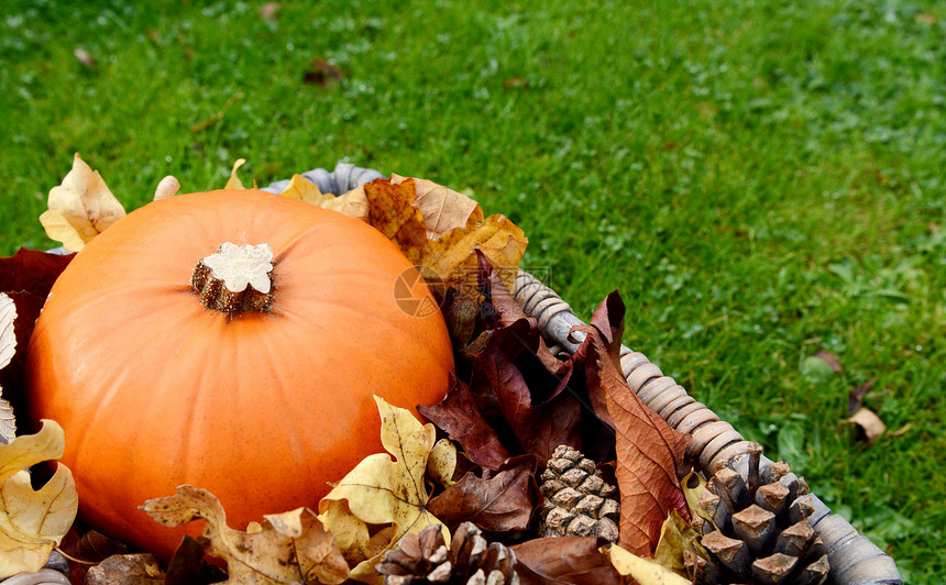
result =
M474 463L498 470L509 457L509 452L483 418L476 399L463 380L452 377L450 390L443 400L433 406L418 406L417 411L460 443Z

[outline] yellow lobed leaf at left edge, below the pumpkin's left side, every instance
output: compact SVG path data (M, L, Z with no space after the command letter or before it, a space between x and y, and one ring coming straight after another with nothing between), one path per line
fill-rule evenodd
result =
M73 526L79 499L68 467L59 464L35 492L22 471L63 456L64 449L63 429L52 420L36 434L0 445L0 578L38 571Z

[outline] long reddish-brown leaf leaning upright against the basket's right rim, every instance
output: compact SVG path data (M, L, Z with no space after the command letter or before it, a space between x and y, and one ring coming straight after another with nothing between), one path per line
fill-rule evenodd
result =
M587 335L581 351L586 357L588 393L594 394L593 384L600 385L616 432L619 543L635 554L652 556L660 529L671 510L675 509L690 521L690 510L676 477L676 467L683 461L690 438L650 410L622 375L618 354L624 303L620 296L609 295L600 310L607 312L609 334L595 325L575 329Z

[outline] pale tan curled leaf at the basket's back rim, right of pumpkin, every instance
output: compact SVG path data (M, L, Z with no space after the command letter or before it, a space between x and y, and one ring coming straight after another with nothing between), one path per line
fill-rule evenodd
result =
M404 183L407 177L392 173L391 183ZM431 240L455 228L468 228L483 221L480 203L465 195L432 180L414 178L415 196L411 205L424 217L427 236Z

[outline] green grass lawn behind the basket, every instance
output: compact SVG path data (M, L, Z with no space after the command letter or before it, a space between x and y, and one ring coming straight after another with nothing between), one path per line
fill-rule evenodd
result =
M260 185L339 158L433 179L524 228L578 312L620 289L626 343L939 582L946 7L628 4L4 2L0 252L54 245L36 217L77 151L127 209L238 157ZM316 58L341 81L304 84ZM873 378L899 432L868 448L843 420Z

